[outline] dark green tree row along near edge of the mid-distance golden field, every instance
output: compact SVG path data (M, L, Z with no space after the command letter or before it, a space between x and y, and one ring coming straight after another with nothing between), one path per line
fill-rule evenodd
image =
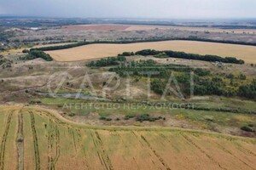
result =
M119 56L131 56L132 53L125 52L123 54L119 54ZM148 55L153 55L154 57L158 56L163 56L164 54L166 57L171 57L171 58L180 58L180 59L196 59L196 60L204 60L204 61L218 61L218 62L223 62L223 63L234 63L234 64L244 64L244 60L241 59L236 59L235 57L220 57L217 55L200 55L200 54L187 54L184 52L177 52L177 51L171 51L171 50L166 50L166 51L157 51L154 49L144 49L141 51L137 51L135 53L136 55L143 55L143 56L148 56Z

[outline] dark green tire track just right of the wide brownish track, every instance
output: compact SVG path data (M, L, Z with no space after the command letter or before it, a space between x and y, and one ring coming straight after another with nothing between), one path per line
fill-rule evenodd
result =
M37 131L35 127L35 117L32 111L29 111L29 113L31 117L31 127L32 127L33 144L34 144L34 150L35 150L36 170L40 170L41 163L40 163L40 154L38 149L38 136L37 136Z

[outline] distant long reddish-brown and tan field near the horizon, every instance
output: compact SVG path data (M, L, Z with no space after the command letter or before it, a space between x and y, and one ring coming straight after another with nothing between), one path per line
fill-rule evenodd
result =
M236 34L256 34L256 30L252 29L220 29L211 27L191 27L191 26L143 26L143 25L73 25L62 26L61 29L67 31L147 31L147 30L180 30L180 31L208 31L208 32L228 32Z

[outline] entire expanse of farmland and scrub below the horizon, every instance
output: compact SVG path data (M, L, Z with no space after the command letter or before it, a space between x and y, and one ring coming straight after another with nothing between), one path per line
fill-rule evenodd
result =
M0 25L1 170L256 170L256 22Z

